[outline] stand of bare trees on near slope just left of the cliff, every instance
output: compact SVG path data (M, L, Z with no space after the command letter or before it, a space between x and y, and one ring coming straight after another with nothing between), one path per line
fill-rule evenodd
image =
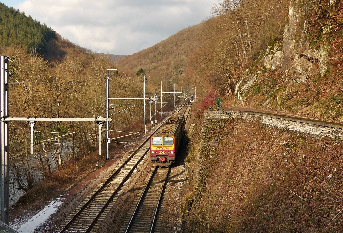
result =
M199 46L189 62L189 77L231 98L246 67L258 58L271 38L283 30L288 0L223 0L213 8L218 15L202 23Z

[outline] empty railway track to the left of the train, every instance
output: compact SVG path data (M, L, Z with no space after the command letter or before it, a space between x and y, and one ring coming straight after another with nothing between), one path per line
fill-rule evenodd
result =
M188 105L189 104L180 105L175 112L183 112L182 109L187 106L184 111L186 113ZM160 125L161 124L162 123L160 123ZM155 130L150 134L154 131ZM98 228L98 225L105 218L108 210L114 205L115 200L119 197L140 165L149 155L149 139L150 137L147 137L141 146L128 156L126 161L123 162L117 170L112 172L109 177L98 186L97 190L93 191L93 193L88 196L87 200L81 203L78 210L74 211L71 218L66 220L61 226L59 229L60 233L94 232Z

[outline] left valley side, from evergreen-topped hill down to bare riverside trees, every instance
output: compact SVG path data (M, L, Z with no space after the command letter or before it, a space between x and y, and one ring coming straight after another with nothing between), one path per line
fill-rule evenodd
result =
M24 85L9 86L11 117L94 118L106 115L106 69L116 68L110 59L125 55L96 54L61 38L47 25L2 3L0 38L0 53L9 57L9 82L24 82L27 86L27 92L23 89ZM111 96L142 97L141 81L132 82L122 72L112 72L110 78ZM116 114L116 120L110 123L112 130L136 132L144 129L142 103L129 104L133 106L130 110L139 114ZM111 116L122 110L121 107L111 107ZM10 183L28 193L23 200L35 196L36 189L42 186L48 194L54 193L52 190L56 188L63 190L65 185L76 182L79 176L94 169L96 162L101 163L104 159L97 152L92 153L98 145L98 126L94 122L40 121L35 129L40 131L35 133L35 151L31 155L29 125L25 121L9 123L9 161L14 174ZM72 131L75 132L73 146L68 145L63 150L60 143L40 142L57 137L61 132ZM120 136L120 133L110 132L110 137L114 136ZM70 136L62 139L71 141ZM116 149L115 143L110 145L110 149ZM58 173L68 169L68 173ZM32 200L36 201L36 198Z

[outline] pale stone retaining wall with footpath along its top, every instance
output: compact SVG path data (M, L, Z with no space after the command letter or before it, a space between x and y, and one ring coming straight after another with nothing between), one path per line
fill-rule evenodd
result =
M205 112L201 129L201 142L204 142L206 138L205 130L208 126L236 118L260 120L262 124L269 127L293 130L319 137L328 137L332 139L343 138L343 124L340 123L269 112L260 109L230 107L224 108L223 111Z

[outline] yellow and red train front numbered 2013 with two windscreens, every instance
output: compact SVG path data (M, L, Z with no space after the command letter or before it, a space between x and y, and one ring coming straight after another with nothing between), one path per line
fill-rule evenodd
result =
M156 165L171 165L175 160L175 137L173 135L151 137L150 158Z

